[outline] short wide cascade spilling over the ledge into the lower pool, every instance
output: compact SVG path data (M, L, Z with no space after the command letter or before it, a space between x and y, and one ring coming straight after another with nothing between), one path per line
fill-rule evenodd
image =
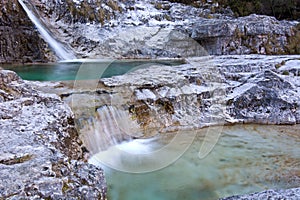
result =
M114 106L98 108L95 117L81 126L81 140L92 155L141 134L140 126L129 113Z

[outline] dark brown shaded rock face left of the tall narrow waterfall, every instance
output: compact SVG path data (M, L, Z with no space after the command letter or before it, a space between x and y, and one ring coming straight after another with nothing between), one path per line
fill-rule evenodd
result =
M0 63L50 61L47 44L18 1L1 1L0 7Z

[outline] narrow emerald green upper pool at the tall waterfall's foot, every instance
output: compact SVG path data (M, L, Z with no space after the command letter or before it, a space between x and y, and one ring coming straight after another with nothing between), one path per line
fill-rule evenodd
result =
M52 64L5 65L4 69L15 71L25 80L63 81L108 78L154 64L178 65L182 60L89 60Z

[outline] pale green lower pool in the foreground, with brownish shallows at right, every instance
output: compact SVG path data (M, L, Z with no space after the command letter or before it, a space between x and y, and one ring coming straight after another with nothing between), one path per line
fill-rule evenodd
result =
M104 168L111 200L214 200L265 189L299 187L299 125L224 127L213 151L199 159L197 154L206 131L197 131L193 144L183 156L157 171L133 174L109 168L101 162L101 154L109 155L109 149L94 155L90 163ZM168 140L164 137L136 140L118 148L147 152ZM179 148L183 144L177 145ZM110 159L117 159L120 164L143 165L139 159L122 155Z

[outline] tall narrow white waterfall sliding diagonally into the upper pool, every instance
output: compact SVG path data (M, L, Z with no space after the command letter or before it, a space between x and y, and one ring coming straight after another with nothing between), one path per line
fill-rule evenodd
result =
M28 6L23 2L23 0L18 0L20 5L23 7L24 11L27 13L29 19L34 23L44 40L50 45L52 50L55 52L56 56L61 60L73 60L76 57L73 53L67 51L64 46L56 41L51 34L42 25L41 21L33 14L33 12L28 8ZM27 2L28 3L28 2Z

